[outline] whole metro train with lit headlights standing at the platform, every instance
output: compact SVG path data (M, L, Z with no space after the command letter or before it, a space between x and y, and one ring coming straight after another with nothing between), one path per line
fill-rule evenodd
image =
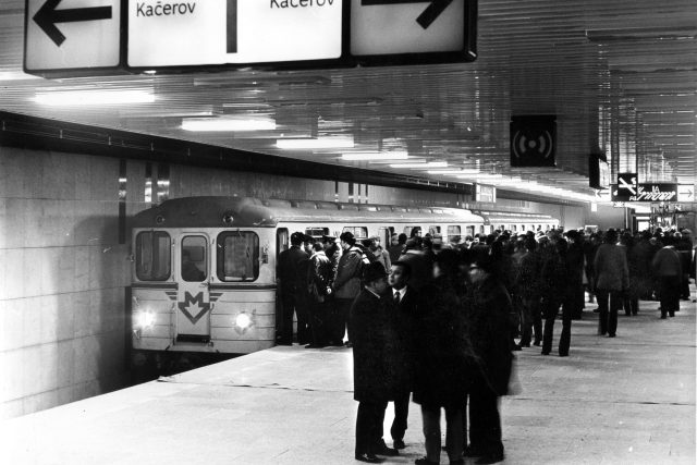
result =
M543 215L248 197L185 197L132 222L133 350L245 354L274 345L276 262L290 234L356 238L413 229L456 243L494 228L557 228Z

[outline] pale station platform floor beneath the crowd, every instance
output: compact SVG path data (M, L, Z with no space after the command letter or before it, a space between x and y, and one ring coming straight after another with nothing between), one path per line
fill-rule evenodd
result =
M696 305L668 320L658 303L639 305L615 339L596 335L587 305L570 357L517 353L522 391L501 403L504 463L696 463ZM358 464L351 370L348 348L274 347L4 421L0 463ZM424 454L411 407L407 448L386 463ZM391 420L390 404L389 444Z

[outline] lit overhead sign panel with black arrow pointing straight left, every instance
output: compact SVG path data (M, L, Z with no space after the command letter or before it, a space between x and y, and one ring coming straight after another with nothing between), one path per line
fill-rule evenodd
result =
M120 0L27 0L27 73L117 69L120 64Z

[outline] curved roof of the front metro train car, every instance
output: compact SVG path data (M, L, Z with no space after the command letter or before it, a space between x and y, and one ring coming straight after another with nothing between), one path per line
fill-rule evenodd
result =
M182 197L137 213L133 228L274 228L279 222L445 221L481 223L469 210L252 197Z

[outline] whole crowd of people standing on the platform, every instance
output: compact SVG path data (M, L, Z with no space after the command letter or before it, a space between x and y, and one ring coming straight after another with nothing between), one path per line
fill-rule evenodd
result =
M295 313L298 343L353 346L356 460L399 455L412 400L426 449L417 465L439 463L441 450L451 464L497 463L504 458L498 400L509 392L513 352L535 345L549 355L561 315L558 354L568 356L586 295L598 302L599 335L616 336L619 313L637 315L640 299L659 299L660 318L673 317L689 298L693 246L689 230L660 229L496 231L455 244L415 229L386 248L351 232L339 243L295 232L278 261L277 342L292 344ZM389 402L392 448L382 430Z

